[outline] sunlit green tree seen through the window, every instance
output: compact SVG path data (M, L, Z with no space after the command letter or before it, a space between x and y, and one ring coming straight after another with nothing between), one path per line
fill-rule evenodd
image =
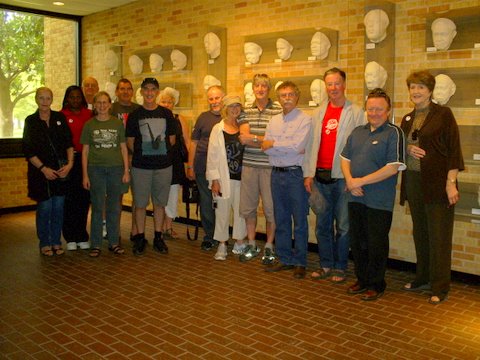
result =
M0 137L12 136L15 106L44 78L43 16L0 10Z

